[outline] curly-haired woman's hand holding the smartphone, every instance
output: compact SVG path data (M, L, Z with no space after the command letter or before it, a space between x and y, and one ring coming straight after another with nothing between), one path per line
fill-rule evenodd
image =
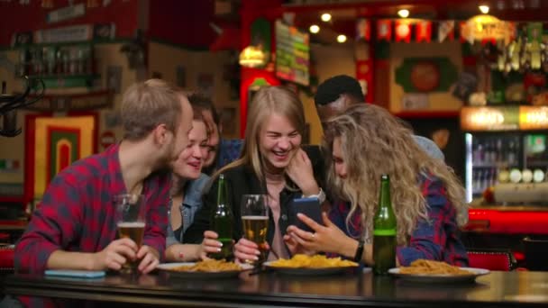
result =
M326 213L322 213L322 219L325 226L320 225L302 213L298 213L297 217L301 222L305 222L307 226L315 231L314 233L304 231L293 225L288 227L288 235L294 242L300 245L302 249L342 254L342 250L348 245L352 245L351 241L355 241L346 236L341 229L335 226L333 222L329 220Z

